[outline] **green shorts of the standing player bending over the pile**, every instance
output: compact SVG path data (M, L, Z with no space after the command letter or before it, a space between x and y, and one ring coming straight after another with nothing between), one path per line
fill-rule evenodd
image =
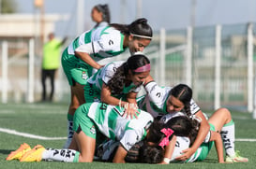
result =
M85 85L88 77L92 76L93 67L83 63L75 55L68 54L68 48L62 53L61 63L70 86L74 86L74 82Z

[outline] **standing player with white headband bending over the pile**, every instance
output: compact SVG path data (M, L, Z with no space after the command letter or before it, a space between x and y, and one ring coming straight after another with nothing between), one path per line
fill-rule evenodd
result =
M83 105L83 87L93 68L103 65L98 61L117 56L129 49L130 53L143 51L152 38L152 29L146 19L138 19L130 24L113 23L110 26L98 26L84 32L72 41L62 54L62 66L70 86L71 99L68 107L68 129L72 128L72 116ZM68 138L72 134L68 133ZM65 146L68 148L68 142Z

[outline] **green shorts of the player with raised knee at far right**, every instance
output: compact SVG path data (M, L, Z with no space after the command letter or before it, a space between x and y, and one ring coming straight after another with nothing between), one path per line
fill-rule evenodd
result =
M215 131L215 126L211 123L210 124L210 131ZM202 148L202 151L200 153L200 155L197 158L197 162L201 162L204 159L206 159L207 155L209 154L211 148L213 148L214 145L214 141L210 141L208 143L203 143L200 148Z

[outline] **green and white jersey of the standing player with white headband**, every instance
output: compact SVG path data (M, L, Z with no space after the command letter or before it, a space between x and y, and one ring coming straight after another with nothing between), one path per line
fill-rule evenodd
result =
M124 35L110 26L98 26L79 35L68 46L68 54L74 55L75 50L87 52L97 62L124 52ZM93 51L88 50L92 47Z

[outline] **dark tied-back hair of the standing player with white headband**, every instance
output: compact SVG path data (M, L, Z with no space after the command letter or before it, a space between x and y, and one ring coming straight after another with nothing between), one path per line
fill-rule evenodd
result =
M119 30L124 35L144 35L144 36L153 36L152 28L147 23L147 20L144 18L138 19L136 21L131 22L130 24L118 24L113 23L110 24L115 29ZM135 38L141 38L136 37Z

